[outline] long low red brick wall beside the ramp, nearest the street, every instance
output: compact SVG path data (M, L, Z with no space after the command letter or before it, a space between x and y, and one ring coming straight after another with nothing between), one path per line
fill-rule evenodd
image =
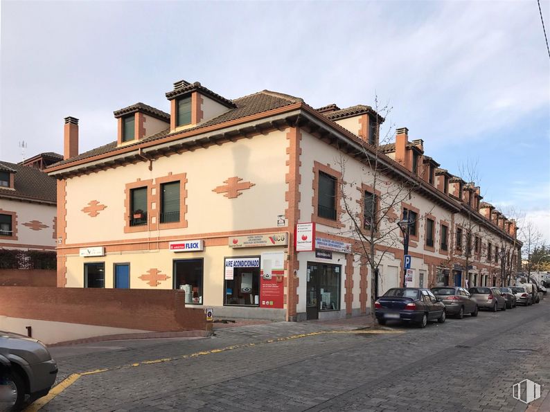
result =
M0 287L0 315L155 332L206 330L204 310L186 308L179 290Z

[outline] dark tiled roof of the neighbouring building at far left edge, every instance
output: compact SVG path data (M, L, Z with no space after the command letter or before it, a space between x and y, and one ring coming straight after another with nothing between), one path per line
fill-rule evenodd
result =
M54 177L32 168L30 166L0 162L0 168L10 168L15 172L14 184L15 190L0 188L0 197L11 197L17 199L30 199L39 201L48 201L55 203L57 201L57 183Z

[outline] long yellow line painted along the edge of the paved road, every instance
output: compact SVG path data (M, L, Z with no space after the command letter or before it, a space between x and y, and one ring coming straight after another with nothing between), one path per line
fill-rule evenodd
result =
M181 355L178 357L168 357L168 358L162 358L162 359L154 359L151 361L141 361L136 362L134 364L127 364L122 366L115 366L114 368L105 368L105 369L96 369L96 370L88 370L87 372L80 372L80 373L73 373L66 379L64 379L62 382L54 386L50 389L50 392L48 395L41 397L39 400L36 400L33 402L33 404L30 404L24 412L36 412L42 409L42 407L53 400L54 397L62 393L66 388L71 386L73 383L77 381L77 379L81 376L87 376L87 375L96 375L97 373L104 373L109 372L112 370L121 370L121 369L127 369L127 368L137 368L139 366L144 365L152 365L152 364L161 364L164 362L170 362L170 361L177 361L181 359L191 359L199 356L204 355L212 355L213 353L220 353L220 352L227 352L229 350L236 350L236 349L243 349L243 348L251 348L252 346L261 345L261 344L267 344L267 343L275 343L275 342L283 342L283 341L291 341L293 339L301 339L306 337L312 337L317 336L320 334L336 334L336 333L343 333L343 334L399 334L399 333L405 333L398 330L323 330L321 332L309 332L309 333L301 333L301 334L294 334L290 337L283 337L283 338L274 338L274 339L267 339L265 341L260 342L251 342L251 343L242 343L239 345L231 345L226 346L225 348L218 348L218 349L212 349L212 350L202 350L201 352L195 352L190 355Z

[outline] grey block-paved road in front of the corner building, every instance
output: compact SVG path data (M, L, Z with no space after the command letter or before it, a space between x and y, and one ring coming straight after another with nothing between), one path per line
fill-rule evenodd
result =
M60 377L107 370L79 377L42 411L525 411L513 384L531 379L549 394L550 298L424 330L390 326L401 333L269 323L55 348ZM273 341L296 334L305 336Z

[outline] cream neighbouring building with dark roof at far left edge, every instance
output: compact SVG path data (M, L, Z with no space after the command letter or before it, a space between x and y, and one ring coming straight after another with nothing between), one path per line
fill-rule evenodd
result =
M42 172L62 156L45 153L31 162L0 161L0 248L55 251L55 178Z

